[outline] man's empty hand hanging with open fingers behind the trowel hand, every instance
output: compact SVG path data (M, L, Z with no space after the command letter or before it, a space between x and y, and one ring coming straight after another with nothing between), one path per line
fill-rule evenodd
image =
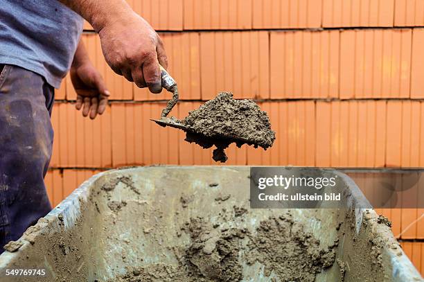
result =
M82 42L78 45L71 67L71 80L77 94L76 109L82 109L82 116L96 118L107 106L109 91L100 73L91 64Z

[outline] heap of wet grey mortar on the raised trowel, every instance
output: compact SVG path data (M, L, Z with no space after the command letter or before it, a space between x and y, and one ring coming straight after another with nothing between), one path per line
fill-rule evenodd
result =
M275 140L270 118L260 110L254 100L234 100L233 94L222 92L182 120L196 133L187 132L186 141L197 143L213 151L215 161L227 161L224 149L231 143L240 148L243 144L270 148Z

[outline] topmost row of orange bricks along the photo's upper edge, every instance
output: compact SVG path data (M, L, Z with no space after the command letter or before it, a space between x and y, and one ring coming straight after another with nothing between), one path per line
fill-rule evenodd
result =
M127 0L156 30L424 26L423 0ZM91 26L86 23L86 30Z

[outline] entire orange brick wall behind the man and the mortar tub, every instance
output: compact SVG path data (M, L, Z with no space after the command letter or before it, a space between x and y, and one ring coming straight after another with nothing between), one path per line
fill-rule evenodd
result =
M181 92L171 115L182 118L219 91L256 99L270 114L274 147L231 146L228 165L424 167L424 0L128 2L164 39ZM46 177L53 204L108 168L215 164L211 150L150 121L170 94L117 76L87 23L85 30L112 96L106 113L90 121L74 109L69 77L56 91ZM424 272L424 209L378 212Z

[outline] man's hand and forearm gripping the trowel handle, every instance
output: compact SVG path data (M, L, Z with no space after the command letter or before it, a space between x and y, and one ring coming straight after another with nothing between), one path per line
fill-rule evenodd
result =
M59 0L87 19L100 35L107 64L119 75L160 93L159 64L168 68L159 35L125 0Z

